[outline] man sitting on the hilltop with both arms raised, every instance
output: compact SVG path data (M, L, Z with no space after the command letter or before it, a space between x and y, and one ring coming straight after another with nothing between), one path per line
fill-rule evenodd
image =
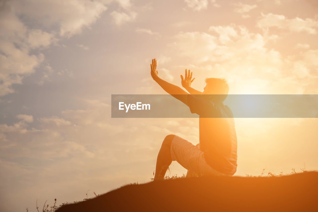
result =
M168 135L162 142L156 163L154 180L163 180L173 160L193 175L232 176L237 168L237 138L233 114L224 105L229 87L224 79L207 78L204 91L191 88L192 72L181 75L182 88L162 80L156 70L157 61L150 64L151 77L170 95L189 106L191 113L199 115L200 143L193 145L176 135Z

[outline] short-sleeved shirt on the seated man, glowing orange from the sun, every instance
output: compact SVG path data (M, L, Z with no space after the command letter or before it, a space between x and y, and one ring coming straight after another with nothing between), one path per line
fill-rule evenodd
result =
M200 95L195 95L200 96ZM191 113L198 114L200 149L206 162L219 172L233 175L237 168L237 137L233 113L221 101L188 95Z

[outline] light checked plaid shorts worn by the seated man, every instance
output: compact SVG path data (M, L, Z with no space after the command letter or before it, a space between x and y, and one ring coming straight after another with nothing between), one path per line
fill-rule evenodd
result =
M230 176L215 170L206 163L204 152L200 150L200 144L193 145L189 141L175 136L171 143L170 152L172 160L176 160L188 170L187 177L203 175Z

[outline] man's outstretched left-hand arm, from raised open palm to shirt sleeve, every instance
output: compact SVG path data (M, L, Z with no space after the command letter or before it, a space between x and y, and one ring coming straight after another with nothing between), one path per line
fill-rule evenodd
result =
M175 97L176 99L180 100L181 102L183 102L184 104L187 104L187 95L188 93L185 92L182 88L180 88L179 86L176 86L174 84L171 84L167 81L162 80L159 76L158 76L158 71L157 71L157 61L156 59L152 60L152 64L150 64L150 68L151 68L151 77L152 79L154 79L154 81L156 81L163 90L165 90L168 94L172 95L173 97Z

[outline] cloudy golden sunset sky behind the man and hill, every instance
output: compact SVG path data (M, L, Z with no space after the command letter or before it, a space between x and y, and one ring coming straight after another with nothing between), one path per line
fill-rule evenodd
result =
M315 0L0 1L0 211L149 182L166 135L197 144L195 118L111 118L112 94L164 94L153 58L178 86L318 94L317 34ZM235 123L234 176L318 169L317 119Z

